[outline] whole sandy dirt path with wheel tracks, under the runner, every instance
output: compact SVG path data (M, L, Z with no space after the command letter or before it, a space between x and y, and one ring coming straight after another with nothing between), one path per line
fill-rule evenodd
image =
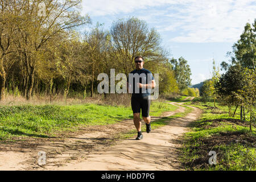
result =
M183 112L180 105L162 117ZM175 140L187 131L189 122L199 117L201 111L193 108L186 117L172 119L150 134L143 133L142 140L116 140L118 133L135 129L133 121L127 119L113 125L88 127L69 138L0 144L0 170L179 170L179 144ZM158 118L152 117L152 122ZM39 151L46 152L44 166L38 165Z

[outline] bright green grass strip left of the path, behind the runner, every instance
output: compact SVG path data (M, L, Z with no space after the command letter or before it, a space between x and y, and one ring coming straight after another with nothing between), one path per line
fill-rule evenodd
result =
M151 115L176 110L162 102L152 102ZM133 118L131 107L96 104L0 106L0 140L24 137L57 137L78 126L108 125Z

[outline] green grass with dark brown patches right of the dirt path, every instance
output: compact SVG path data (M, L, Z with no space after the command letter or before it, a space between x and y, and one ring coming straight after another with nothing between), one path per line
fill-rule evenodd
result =
M188 102L204 110L193 122L192 130L183 137L180 160L187 170L255 170L256 130L240 121L240 111L229 117L226 106L213 107L212 102ZM208 155L216 151L217 164L210 165Z

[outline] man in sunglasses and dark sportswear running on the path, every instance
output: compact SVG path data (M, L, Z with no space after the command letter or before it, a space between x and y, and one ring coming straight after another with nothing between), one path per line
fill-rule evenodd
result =
M142 117L146 123L146 131L150 133L150 92L151 88L155 87L155 80L152 73L143 68L144 59L142 56L137 56L134 59L134 71L129 73L127 80L127 89L131 95L131 109L133 109L133 122L138 131L137 140L141 140L143 135L141 133L141 110Z

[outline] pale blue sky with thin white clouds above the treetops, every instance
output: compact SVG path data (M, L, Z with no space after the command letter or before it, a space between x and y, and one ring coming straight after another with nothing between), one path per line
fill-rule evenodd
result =
M212 61L228 61L226 52L240 38L247 22L256 18L255 0L82 0L82 14L92 26L135 16L154 27L171 57L183 56L191 68L192 84L210 78Z

